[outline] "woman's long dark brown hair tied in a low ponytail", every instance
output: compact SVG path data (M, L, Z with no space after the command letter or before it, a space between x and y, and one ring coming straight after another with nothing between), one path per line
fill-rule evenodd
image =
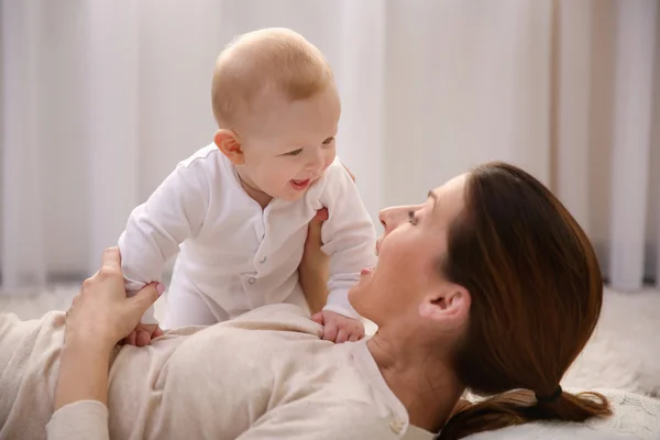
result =
M475 168L464 201L441 271L472 297L455 372L491 397L458 410L438 438L609 415L597 393L542 398L558 389L601 314L601 270L582 228L540 182L504 163Z

